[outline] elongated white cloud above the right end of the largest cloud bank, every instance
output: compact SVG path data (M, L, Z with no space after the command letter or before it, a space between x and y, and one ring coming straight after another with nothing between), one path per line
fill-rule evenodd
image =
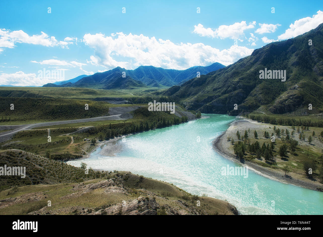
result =
M220 25L219 28L212 30L211 28L204 28L202 24L194 25L193 33L199 34L200 36L208 36L212 38L231 38L238 39L244 35L244 31L255 27L256 22L246 24L245 21L236 22L232 25Z

